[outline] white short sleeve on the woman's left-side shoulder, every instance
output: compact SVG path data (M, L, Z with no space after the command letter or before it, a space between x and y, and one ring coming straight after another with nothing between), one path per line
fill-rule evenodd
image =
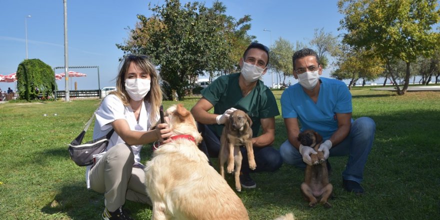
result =
M114 120L125 119L124 110L122 101L116 95L107 95L96 111L95 123L99 124L101 130L107 130Z

